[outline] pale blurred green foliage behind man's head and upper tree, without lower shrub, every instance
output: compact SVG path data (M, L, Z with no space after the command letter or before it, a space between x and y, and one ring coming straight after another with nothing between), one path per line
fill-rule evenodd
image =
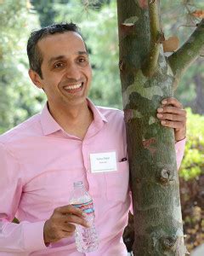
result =
M189 36L192 27L180 25L185 24L188 9L202 9L203 3L194 0L186 4L188 2L161 1L161 20L166 37L177 35L184 42ZM91 8L82 6L81 0L49 0L46 3L31 0L32 8L30 2L24 0L0 3L0 133L39 111L45 101L43 93L34 89L27 75L26 40L29 32L39 27L38 16L42 26L53 21L77 22L88 44L94 71L90 98L97 105L122 108L116 1L91 0L89 3L92 3ZM196 21L195 17L193 19ZM195 62L180 82L176 96L184 106L193 106L196 96L194 77L201 75L202 70L203 61Z

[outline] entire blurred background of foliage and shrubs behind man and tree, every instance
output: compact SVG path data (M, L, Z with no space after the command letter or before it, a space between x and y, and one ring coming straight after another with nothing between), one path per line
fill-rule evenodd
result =
M199 22L191 15L197 9L204 9L202 0L161 0L165 37L175 35L183 44ZM0 133L41 111L45 103L42 91L31 84L27 74L30 32L65 21L76 22L88 44L94 73L90 98L96 105L122 109L116 0L0 0ZM203 60L200 56L189 67L175 92L188 108L188 139L179 173L189 250L204 242Z

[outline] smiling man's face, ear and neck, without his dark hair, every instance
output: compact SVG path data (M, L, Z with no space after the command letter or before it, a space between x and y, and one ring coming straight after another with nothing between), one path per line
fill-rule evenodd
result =
M86 101L92 70L82 37L77 32L45 34L36 51L28 44L30 49L30 62L35 54L42 58L40 75L34 68L29 74L46 93L49 112L67 133L83 138L93 114Z

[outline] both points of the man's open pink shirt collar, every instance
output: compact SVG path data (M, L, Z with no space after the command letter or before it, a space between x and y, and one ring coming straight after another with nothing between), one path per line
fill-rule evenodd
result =
M107 122L103 113L99 112L99 109L95 107L94 103L87 99L88 107L91 108L92 112L94 113L94 122L102 123ZM42 109L42 113L40 115L42 131L44 135L48 135L54 133L55 131L63 131L62 127L55 121L51 113L48 111L48 103L45 104L44 108Z

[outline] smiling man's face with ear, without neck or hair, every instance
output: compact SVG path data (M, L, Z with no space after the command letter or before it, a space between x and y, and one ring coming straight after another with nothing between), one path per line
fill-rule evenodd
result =
M34 84L43 88L49 107L56 110L86 102L92 79L88 53L80 35L65 32L42 38L37 43L42 53L42 79L30 71Z

